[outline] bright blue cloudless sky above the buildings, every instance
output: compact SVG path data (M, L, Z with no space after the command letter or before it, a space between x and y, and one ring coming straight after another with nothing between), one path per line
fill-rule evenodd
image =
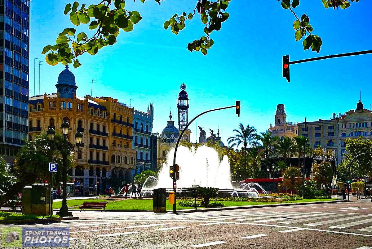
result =
M97 1L80 1L93 3ZM30 28L30 94L33 92L33 58L42 61L40 93L55 92L58 74L64 69L49 66L41 54L44 46L55 44L64 28L87 30L74 26L62 12L70 1L33 0ZM71 2L72 3L72 2ZM96 79L93 96L112 96L120 102L133 99L135 109L146 111L154 103L154 128L166 126L171 108L177 120L176 98L184 82L190 98L189 120L197 114L241 101L238 118L234 109L209 113L198 119L198 125L222 131L222 142L234 135L239 123L256 127L259 132L274 123L277 104L285 104L287 121L303 122L329 119L332 113L356 108L362 90L362 102L372 103L372 54L320 60L291 65L291 82L282 77L282 56L300 60L329 54L371 49L371 1L353 2L348 9L325 9L321 0L301 0L295 9L298 16L306 13L310 24L323 40L320 53L304 51L302 41L295 41L292 23L295 17L279 1L232 0L230 17L220 31L211 34L214 45L207 56L190 53L187 43L199 39L203 24L198 15L176 36L163 28L174 13L189 13L196 0L126 1L126 9L137 10L143 17L132 32L121 31L118 42L105 47L95 56L84 54L77 69L77 94L90 94L90 82ZM38 94L38 61L36 60L36 94ZM196 123L191 125L195 142Z

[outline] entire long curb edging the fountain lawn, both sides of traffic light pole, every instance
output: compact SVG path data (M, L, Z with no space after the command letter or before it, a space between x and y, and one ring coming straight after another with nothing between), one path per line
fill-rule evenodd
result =
M323 202L294 202L294 203L281 203L281 204L262 204L262 205L249 205L249 206L232 206L232 207L224 207L224 208L201 208L201 209L179 209L177 213L194 213L194 212L209 212L209 211L221 211L221 210L234 210L234 209L251 209L251 208L265 208L265 207L278 207L278 206L296 206L296 205L307 205L307 204L321 204L321 203L338 203L344 202L343 200L329 200ZM59 209L55 209L59 210ZM80 211L75 209L69 209L69 211ZM93 212L101 212L100 210L84 210L82 212L93 211ZM150 212L154 213L153 210L128 210L128 209L106 209L107 212ZM105 212L103 211L103 212ZM167 210L168 213L173 213L171 210Z

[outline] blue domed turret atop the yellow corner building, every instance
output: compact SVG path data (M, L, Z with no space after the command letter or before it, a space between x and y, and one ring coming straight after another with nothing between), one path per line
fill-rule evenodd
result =
M57 84L57 93L60 94L60 98L70 98L73 99L76 96L76 83L74 74L68 70L68 65L66 69L63 70L58 76Z

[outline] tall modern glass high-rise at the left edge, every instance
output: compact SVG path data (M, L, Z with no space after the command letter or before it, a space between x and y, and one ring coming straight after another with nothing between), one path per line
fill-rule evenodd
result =
M28 132L29 1L0 0L0 155L8 162Z

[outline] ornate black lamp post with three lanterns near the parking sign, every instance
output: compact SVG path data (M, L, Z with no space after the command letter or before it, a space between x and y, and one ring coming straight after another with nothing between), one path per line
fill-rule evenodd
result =
M67 207L67 155L70 154L71 151L77 151L75 150L75 145L70 143L67 140L68 137L68 130L70 129L69 123L64 120L61 125L62 134L64 136L64 139L60 145L55 145L53 143L54 141L54 135L55 130L52 127L49 127L47 134L48 134L48 140L51 142L51 147L53 149L59 150L63 157L63 166L62 166L62 206L60 210L57 212L57 215L64 217L64 216L72 216L72 212L68 212ZM77 149L79 149L79 146L81 144L81 141L83 140L83 134L81 132L75 133L75 140L76 140L76 146Z

